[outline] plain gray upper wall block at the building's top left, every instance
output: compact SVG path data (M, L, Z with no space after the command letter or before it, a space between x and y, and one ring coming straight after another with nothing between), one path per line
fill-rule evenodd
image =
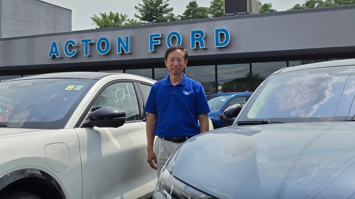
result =
M71 10L39 0L0 0L0 38L71 32Z

